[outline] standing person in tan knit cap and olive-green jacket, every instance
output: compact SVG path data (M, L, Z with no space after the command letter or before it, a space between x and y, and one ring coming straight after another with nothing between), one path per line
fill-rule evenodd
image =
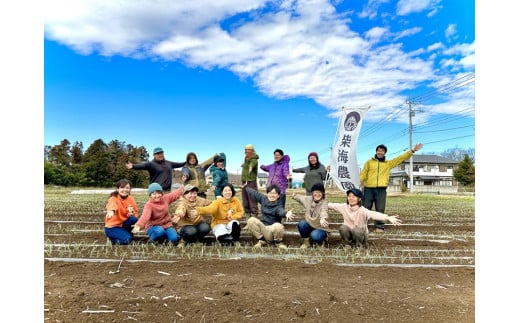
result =
M258 177L258 159L260 158L255 152L255 147L252 144L247 144L244 148L244 162L242 165L242 186L250 187L251 189L258 191L258 184L256 182ZM242 203L244 205L244 211L246 217L258 216L258 202L247 194L245 189L242 189Z

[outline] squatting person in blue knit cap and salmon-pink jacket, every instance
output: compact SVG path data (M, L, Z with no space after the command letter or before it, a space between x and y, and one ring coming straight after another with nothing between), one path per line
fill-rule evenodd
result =
M176 243L179 235L173 228L170 215L170 204L175 202L182 194L184 187L180 186L173 192L164 193L159 183L148 186L149 199L143 207L141 217L134 225L132 233L145 230L153 243Z

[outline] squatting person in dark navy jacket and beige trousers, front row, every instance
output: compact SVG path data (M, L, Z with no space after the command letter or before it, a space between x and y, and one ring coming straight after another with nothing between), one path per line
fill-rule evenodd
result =
M257 217L250 217L247 219L245 228L249 229L253 237L258 239L258 242L253 246L260 248L265 246L268 242L274 242L280 249L287 249L287 246L282 242L284 226L283 219L292 221L294 215L291 211L286 211L280 201L280 188L277 185L270 185L267 187L267 195L264 195L249 186L244 185L247 194L250 195L256 202L260 204L262 210L260 219Z

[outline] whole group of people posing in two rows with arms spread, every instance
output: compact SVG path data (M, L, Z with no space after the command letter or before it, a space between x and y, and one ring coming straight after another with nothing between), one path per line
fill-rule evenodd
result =
M316 153L309 153L309 166L293 169L293 172L304 172L306 181L306 194L292 195L292 198L305 210L303 218L297 223L302 238L300 248L323 245L331 232L328 210L335 210L342 215L343 223L339 227L339 234L352 247L366 245L369 221L375 221L376 230L384 230L385 221L400 225L401 220L398 215L390 216L384 213L389 172L392 167L421 148L422 144L417 144L397 158L386 160L387 148L379 145L374 158L367 161L361 171L361 189L349 189L346 192L345 203L327 202L323 185L326 169L319 163ZM213 231L218 243L239 246L241 231L247 229L255 239L254 248L272 243L278 248L286 249L287 245L283 242L285 230L283 223L285 220L292 221L295 218L293 211L285 208L287 181L291 177L290 158L281 149L276 149L274 163L259 166L259 157L253 145L246 145L244 153L241 176L242 201L235 196L233 184L227 182L227 173L224 175L225 154L223 153L215 154L201 165L198 164L196 155L189 153L186 163L179 165L180 163L166 161L162 149L156 148L154 161L144 165L129 163L127 165L129 169L150 171L151 180L153 178L166 180L165 176L157 174L152 177L152 172L168 169L170 186L166 184L165 187L164 182L151 183L148 187L149 199L139 215L135 200L130 195L130 182L126 179L120 180L116 184L116 191L110 194L106 204L107 238L112 244L129 244L133 240L133 234L144 230L153 243L171 243L184 247L186 244L201 244L210 231ZM154 162L162 163L161 167L153 165ZM181 171L183 185L170 192L171 169L175 168L174 166L183 167ZM210 166L216 172L211 185L215 196L218 197L214 200L208 200L205 194L201 194L205 191L201 192L200 189L202 184L206 185L203 174ZM256 181L258 167L269 173L266 194L258 191ZM221 174L218 174L219 171ZM189 182L190 180L192 182ZM179 201L172 216L170 205L177 200ZM371 210L372 204L375 204L375 211ZM211 217L210 223L206 221L205 216ZM239 220L244 216L247 219L246 225L241 228Z

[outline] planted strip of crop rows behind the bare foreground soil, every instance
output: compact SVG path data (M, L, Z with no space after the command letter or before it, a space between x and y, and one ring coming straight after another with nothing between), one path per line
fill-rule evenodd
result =
M402 226L386 226L384 234L370 233L364 249L345 247L337 228L342 218L330 212L333 229L323 248L301 250L296 223L303 208L290 198L287 208L297 218L285 223L287 250L251 248L256 241L242 232L241 247L215 245L207 237L202 247L176 248L146 243L146 235L136 236L129 246L107 244L104 235L104 206L108 194L72 194L72 189L45 188L44 257L68 261L171 261L183 258L282 258L315 263L334 262L345 266L421 266L450 267L475 265L475 199L473 196L397 194L388 196L386 213L399 214ZM296 191L304 194L303 191ZM144 193L132 194L141 210L147 200ZM237 194L240 197L240 194ZM344 202L345 194L328 190L329 202ZM173 210L173 207L172 207ZM242 226L245 225L245 219ZM370 227L369 227L370 228Z

